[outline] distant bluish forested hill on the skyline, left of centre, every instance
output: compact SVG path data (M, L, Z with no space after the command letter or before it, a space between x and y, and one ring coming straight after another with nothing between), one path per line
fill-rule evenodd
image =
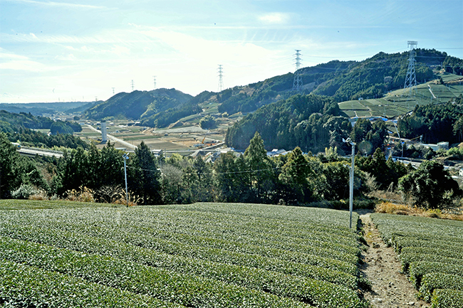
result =
M83 115L95 120L109 117L138 120L168 109L179 108L191 99L192 95L175 89L120 92L105 102L85 110Z

